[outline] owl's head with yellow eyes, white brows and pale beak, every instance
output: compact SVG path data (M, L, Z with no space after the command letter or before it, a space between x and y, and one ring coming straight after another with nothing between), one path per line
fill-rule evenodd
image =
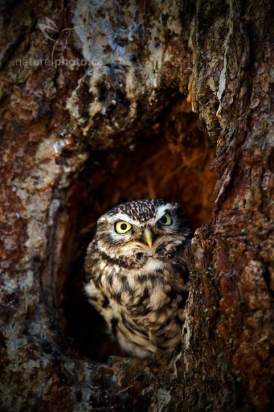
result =
M99 249L113 257L161 255L189 236L179 204L162 199L123 203L97 222Z

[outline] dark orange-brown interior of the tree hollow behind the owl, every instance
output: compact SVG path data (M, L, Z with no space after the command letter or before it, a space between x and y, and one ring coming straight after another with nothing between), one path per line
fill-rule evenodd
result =
M119 203L140 198L179 202L193 230L211 218L216 182L216 174L210 170L214 148L201 132L197 117L186 113L186 107L184 100L177 102L163 122L138 135L135 146L92 152L71 189L69 213L74 237L63 290L65 332L80 354L95 361L121 354L104 333L103 320L83 292L84 257L97 218Z

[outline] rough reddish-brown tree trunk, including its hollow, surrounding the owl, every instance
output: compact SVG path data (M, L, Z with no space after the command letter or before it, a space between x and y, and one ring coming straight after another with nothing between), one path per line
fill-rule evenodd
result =
M271 3L1 8L1 411L273 411ZM198 227L182 352L90 361L64 333L86 317L84 248L105 208L149 195Z

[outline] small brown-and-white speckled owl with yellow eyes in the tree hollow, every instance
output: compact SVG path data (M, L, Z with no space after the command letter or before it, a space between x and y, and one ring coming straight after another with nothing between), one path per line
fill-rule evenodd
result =
M99 218L85 290L125 352L145 358L179 349L190 237L182 209L162 199L123 203Z

